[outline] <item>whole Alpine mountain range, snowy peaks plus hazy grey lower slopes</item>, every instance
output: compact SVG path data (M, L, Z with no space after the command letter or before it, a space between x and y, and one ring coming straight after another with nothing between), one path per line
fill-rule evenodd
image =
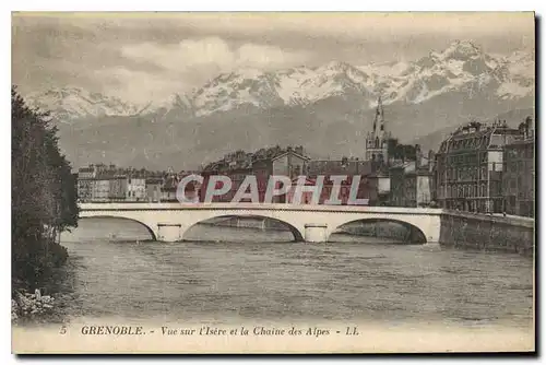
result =
M385 128L423 150L436 150L471 119L503 116L515 127L534 114L534 55L488 55L455 42L413 62L238 70L139 106L78 87L24 96L59 121L60 145L74 166L195 168L276 144L302 144L314 157L364 157L379 95Z

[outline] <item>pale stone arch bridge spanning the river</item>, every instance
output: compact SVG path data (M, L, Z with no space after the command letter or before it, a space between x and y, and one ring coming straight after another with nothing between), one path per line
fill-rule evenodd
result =
M193 225L214 217L266 217L284 223L296 240L328 242L344 224L356 221L394 221L420 231L427 243L440 237L441 209L364 205L305 205L254 203L81 203L80 217L118 217L143 224L153 238L177 242Z

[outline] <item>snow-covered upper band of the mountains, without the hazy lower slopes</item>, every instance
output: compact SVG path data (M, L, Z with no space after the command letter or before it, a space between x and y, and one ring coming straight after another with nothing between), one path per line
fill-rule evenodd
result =
M135 106L119 98L78 87L28 95L31 104L51 110L59 120L82 117L134 116L169 113L202 117L240 107L268 109L306 106L331 97L359 98L360 108L420 104L451 92L487 94L501 101L534 96L534 56L517 51L508 57L485 54L471 42L454 42L414 62L352 66L341 61L277 71L253 69L223 73L190 94ZM154 107L153 105L158 105Z

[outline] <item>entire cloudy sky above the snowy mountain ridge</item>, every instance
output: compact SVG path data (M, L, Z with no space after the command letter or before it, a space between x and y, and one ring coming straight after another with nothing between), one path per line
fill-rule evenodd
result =
M241 68L413 61L452 42L534 52L533 13L14 13L12 83L134 104Z

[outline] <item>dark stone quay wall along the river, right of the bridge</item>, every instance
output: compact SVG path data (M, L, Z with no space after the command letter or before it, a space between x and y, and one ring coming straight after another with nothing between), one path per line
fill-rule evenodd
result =
M441 215L442 246L532 256L534 244L534 219L452 211Z

